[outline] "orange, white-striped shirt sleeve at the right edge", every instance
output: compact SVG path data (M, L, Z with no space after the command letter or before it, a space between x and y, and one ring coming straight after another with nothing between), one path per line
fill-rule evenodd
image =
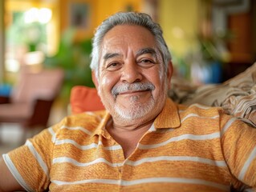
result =
M223 122L221 122L222 124ZM256 189L256 129L231 118L221 130L221 144L234 184Z

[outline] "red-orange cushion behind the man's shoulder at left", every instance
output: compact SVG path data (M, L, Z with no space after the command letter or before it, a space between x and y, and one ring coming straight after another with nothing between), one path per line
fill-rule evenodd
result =
M74 86L71 89L70 103L71 114L105 109L97 90L87 86Z

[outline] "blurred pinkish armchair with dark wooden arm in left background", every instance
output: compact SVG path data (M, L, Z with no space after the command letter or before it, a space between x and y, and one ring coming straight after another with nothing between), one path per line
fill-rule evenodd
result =
M18 123L23 131L47 127L52 104L63 83L63 70L22 71L9 98L0 97L0 128L2 123ZM0 130L1 131L1 130Z

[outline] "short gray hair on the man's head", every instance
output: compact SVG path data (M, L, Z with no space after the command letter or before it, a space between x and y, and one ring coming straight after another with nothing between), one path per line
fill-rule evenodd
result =
M136 13L136 12L119 12L113 14L96 29L95 36L92 41L92 52L91 52L91 70L95 71L95 76L99 76L99 63L100 63L100 54L101 54L101 43L105 34L108 33L114 26L118 25L137 25L143 26L148 29L156 38L158 48L161 51L161 56L165 63L165 71L168 67L168 63L171 60L171 54L169 48L166 45L165 39L163 38L163 30L161 26L156 22L152 21L152 18L148 14Z

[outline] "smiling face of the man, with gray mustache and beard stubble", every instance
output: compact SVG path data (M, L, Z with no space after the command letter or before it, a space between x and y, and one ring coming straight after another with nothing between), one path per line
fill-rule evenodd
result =
M141 26L115 26L104 36L101 50L98 90L113 118L156 118L169 80L153 35Z

